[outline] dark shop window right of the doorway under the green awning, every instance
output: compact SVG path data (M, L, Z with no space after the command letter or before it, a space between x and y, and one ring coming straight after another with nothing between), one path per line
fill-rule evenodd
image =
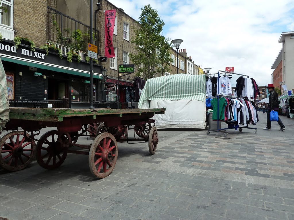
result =
M96 88L95 84L93 84L93 88ZM95 96L94 92L93 96ZM71 100L90 102L90 84L85 80L73 79L71 83Z

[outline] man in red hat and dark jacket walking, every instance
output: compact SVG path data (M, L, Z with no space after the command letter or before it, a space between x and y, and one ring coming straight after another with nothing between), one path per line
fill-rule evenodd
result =
M264 130L270 130L271 127L271 121L270 121L270 111L278 111L279 110L279 99L278 99L278 93L275 91L275 87L273 84L268 84L268 93L270 94L269 97L269 103L268 103L268 111L266 116L266 128L263 128ZM281 129L280 131L284 131L286 128L281 121L280 118L278 118L278 124L280 125Z

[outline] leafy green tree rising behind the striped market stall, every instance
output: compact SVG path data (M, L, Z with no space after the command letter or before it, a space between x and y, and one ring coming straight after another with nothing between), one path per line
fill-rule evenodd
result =
M169 71L171 43L162 35L164 22L157 10L146 5L141 11L138 21L140 28L134 31L135 37L131 39L137 53L130 53L129 58L135 65L140 65L137 75L143 75L146 79Z

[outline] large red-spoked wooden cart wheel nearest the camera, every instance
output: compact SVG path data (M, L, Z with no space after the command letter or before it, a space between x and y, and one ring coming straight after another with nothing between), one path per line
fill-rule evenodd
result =
M89 152L89 167L99 178L111 174L118 156L117 142L111 133L101 133L92 143Z

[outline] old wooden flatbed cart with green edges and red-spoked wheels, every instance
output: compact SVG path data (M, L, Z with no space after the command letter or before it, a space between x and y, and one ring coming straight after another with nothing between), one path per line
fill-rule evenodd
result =
M158 135L155 120L151 118L164 113L164 108L10 108L10 120L5 130L11 132L0 139L0 165L9 171L21 170L36 155L38 164L51 170L59 167L68 153L86 154L89 155L90 171L96 177L104 178L111 174L116 164L119 140L148 142L150 154L155 153ZM23 131L19 131L19 127ZM57 127L57 130L36 139L40 129L45 127ZM134 129L139 138L128 138L128 128ZM76 143L80 136L95 139L90 145L80 145ZM89 150L71 150L71 146Z

